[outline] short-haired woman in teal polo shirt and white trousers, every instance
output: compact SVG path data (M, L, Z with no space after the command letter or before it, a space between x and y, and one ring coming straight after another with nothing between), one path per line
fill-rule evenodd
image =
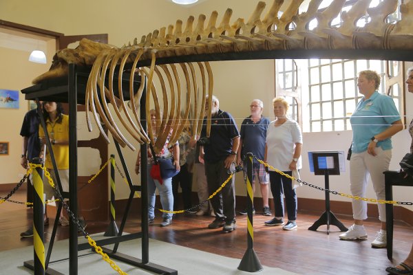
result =
M352 156L350 159L350 190L352 195L366 197L368 179L371 177L377 200L385 199L383 172L388 170L392 159L390 138L403 129L403 123L394 101L390 96L380 94L377 89L380 76L377 72L359 72L357 87L364 97L357 104L350 118L352 125ZM378 203L381 230L372 241L375 248L385 248L385 204ZM367 201L352 200L354 224L347 232L340 234L343 240L367 239L363 220L367 219Z

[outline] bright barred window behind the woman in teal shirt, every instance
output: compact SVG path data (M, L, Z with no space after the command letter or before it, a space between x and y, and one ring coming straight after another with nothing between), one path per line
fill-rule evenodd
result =
M370 8L383 0L373 0ZM355 3L348 0L342 11L350 10ZM330 5L330 0L321 2L319 10ZM399 0L399 4L401 0ZM397 10L388 17L388 22L400 19ZM370 17L362 17L357 26L363 27ZM338 16L332 25L341 25ZM294 27L294 25L292 24ZM310 21L309 28L317 27L317 19ZM373 69L381 76L379 92L391 96L401 115L403 110L404 72L399 61L374 60L277 60L275 61L275 96L290 102L288 116L301 124L304 132L351 130L350 116L363 95L357 89L358 73Z

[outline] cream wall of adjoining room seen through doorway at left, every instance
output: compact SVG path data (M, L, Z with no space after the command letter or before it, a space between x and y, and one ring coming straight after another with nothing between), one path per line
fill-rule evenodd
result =
M30 87L32 78L43 74L52 64L52 56L56 50L54 39L45 41L45 47L49 52L47 54L48 63L39 64L28 61L30 52L35 49L30 49L30 47L12 49L9 47L10 43L3 43L4 40L10 39L11 41L18 35L24 35L23 40L39 39L39 37L2 28L0 28L0 34L3 34L0 39L0 89L20 91ZM23 117L28 109L28 101L24 99L23 94L19 94L19 109L0 108L0 142L9 142L10 147L9 155L0 156L0 184L19 182L25 173L25 170L20 166L23 139L19 133Z

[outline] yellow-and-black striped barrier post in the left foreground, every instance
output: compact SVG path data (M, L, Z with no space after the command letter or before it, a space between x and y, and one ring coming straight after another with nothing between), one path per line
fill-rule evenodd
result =
M32 159L33 164L42 164L39 157ZM33 175L33 248L34 248L34 274L45 274L45 244L44 241L44 199L43 199L43 169L35 168Z

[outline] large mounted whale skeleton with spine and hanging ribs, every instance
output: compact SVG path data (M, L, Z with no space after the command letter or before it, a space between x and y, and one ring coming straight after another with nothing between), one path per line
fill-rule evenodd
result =
M229 8L219 25L216 11L211 13L206 26L207 17L204 14L199 15L196 23L195 17L190 16L184 30L183 22L177 20L175 25L154 30L143 35L139 42L134 39L133 43L123 47L82 39L76 49L56 52L50 70L35 78L33 83L66 75L69 63L92 66L85 101L89 131L92 131L90 111L107 142L109 137L101 122L121 146L135 150L120 131L115 121L118 118L134 140L140 144L151 143L156 153L159 153L168 136L171 144L178 140L187 122L191 124L191 136L198 137L204 115L208 118L209 136L211 113L205 114L204 107L207 95L211 106L213 72L208 61L215 60L217 55L225 60L225 56L237 59L241 53L271 51L413 50L413 0L399 7L397 0L386 0L374 8L368 8L371 0L359 0L347 12L341 12L345 0L332 1L322 12L318 11L321 0L312 0L306 12L299 14L299 6L303 1L290 1L279 16L279 8L284 0L274 0L264 17L262 13L266 3L260 1L247 21L239 18L233 23L233 10ZM386 19L397 8L401 19L387 23ZM338 16L341 23L332 26L332 20ZM365 16L370 17L370 21L362 28L357 27L357 21ZM314 19L317 20L317 27L310 30L310 21ZM197 62L184 62L187 56L198 56L198 59L193 59ZM122 87L123 72L126 71L130 72L128 104L124 102ZM118 72L118 94L114 93L115 72ZM136 76L140 78L137 89L134 88ZM105 85L105 80L108 80L108 85ZM149 109L152 102L156 120L160 122L156 124L156 133L151 127L145 133L138 115L145 83L146 117L148 124L151 123ZM200 95L199 88L202 91ZM115 114L112 114L107 102L112 105ZM154 137L157 137L156 141Z

